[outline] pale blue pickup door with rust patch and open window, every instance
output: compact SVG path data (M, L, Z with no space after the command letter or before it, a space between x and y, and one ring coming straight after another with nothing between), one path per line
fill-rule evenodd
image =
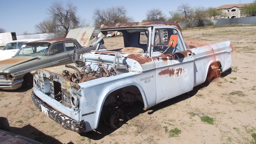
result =
M178 35L175 36L178 37L177 44L167 48L172 34ZM183 46L183 38L180 35L175 28L153 28L151 56L156 67L156 104L193 88L194 57L193 53Z

